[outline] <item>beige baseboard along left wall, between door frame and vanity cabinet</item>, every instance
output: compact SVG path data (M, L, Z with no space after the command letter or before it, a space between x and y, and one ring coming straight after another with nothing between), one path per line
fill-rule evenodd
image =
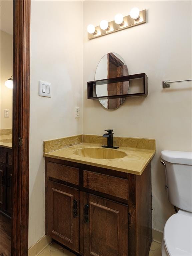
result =
M43 236L37 243L31 246L28 250L28 256L37 256L42 252L45 247L51 243L51 238L49 236Z

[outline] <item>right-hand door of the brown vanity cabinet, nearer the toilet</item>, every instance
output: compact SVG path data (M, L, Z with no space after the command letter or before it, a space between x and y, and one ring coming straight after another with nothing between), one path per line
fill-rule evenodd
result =
M84 206L84 255L128 256L128 207L94 195Z

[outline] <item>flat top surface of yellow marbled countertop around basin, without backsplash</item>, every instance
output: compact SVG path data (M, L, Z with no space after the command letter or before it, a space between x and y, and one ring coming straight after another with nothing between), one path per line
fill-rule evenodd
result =
M141 149L141 148L132 148L132 147L119 147L118 149L110 149L110 150L123 151L127 154L123 158L115 158L115 159L102 159L102 158L97 159L97 158L83 157L83 156L74 154L74 151L77 149L90 148L90 147L101 148L102 145L104 144L82 142L82 143L65 147L59 150L44 153L44 156L107 168L107 169L112 169L116 171L136 174L136 175L141 175L145 167L147 166L147 164L150 162L150 160L155 154L154 149ZM155 142L154 142L154 145L155 145ZM108 149L106 148L105 150L108 150Z

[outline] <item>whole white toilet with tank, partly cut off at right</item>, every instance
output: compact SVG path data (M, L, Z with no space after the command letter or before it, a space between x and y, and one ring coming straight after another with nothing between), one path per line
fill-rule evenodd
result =
M192 152L161 152L169 202L179 208L166 222L162 256L192 256Z

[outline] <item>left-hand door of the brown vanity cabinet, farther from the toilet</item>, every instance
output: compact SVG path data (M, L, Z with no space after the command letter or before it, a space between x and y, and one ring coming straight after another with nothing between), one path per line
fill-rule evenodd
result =
M47 233L79 252L79 190L48 181Z

